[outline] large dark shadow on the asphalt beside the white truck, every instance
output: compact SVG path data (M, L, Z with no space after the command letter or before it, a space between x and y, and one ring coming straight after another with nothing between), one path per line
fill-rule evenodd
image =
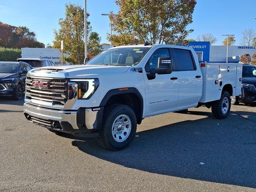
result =
M102 149L95 138L72 145L128 168L256 188L256 129L246 130L246 122L239 121L237 114L230 114L226 120L186 120L137 132L132 144L118 152Z

